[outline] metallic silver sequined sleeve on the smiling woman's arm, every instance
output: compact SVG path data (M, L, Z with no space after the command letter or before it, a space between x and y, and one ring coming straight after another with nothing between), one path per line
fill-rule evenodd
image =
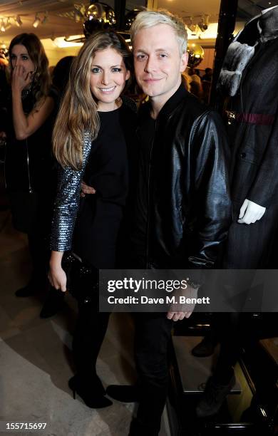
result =
M51 228L51 250L71 249L73 229L80 202L81 181L91 151L91 137L84 134L83 164L81 170L61 168L58 175L58 192L54 203Z

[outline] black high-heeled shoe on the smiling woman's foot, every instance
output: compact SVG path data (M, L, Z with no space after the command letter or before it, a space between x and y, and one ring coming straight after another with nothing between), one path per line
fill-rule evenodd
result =
M101 409L113 404L112 401L104 396L105 389L98 377L91 382L85 380L82 383L76 375L73 375L68 380L68 386L73 391L73 399L76 399L76 393L78 393L88 408Z

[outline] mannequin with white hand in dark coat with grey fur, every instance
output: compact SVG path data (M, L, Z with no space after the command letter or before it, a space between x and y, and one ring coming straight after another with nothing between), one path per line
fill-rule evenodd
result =
M250 20L228 48L218 89L230 97L234 222L224 268L266 268L278 221L278 6Z

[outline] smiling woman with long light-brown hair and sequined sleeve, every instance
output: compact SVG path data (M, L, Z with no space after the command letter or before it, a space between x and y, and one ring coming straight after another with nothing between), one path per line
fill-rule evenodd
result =
M111 403L96 373L96 359L109 313L98 312L98 269L115 268L118 233L128 194L128 152L135 104L120 97L132 59L124 39L99 31L86 41L71 66L68 88L53 130L61 165L51 235L49 279L66 291L63 252L71 250L78 321L73 335L76 375L69 380L88 407ZM81 197L81 184L94 195Z

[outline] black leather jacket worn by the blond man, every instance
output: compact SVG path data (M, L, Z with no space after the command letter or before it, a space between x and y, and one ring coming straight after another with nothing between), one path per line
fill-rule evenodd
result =
M139 138L149 114L147 103L139 113ZM148 171L147 267L215 264L232 221L228 150L220 116L181 85L156 120Z

